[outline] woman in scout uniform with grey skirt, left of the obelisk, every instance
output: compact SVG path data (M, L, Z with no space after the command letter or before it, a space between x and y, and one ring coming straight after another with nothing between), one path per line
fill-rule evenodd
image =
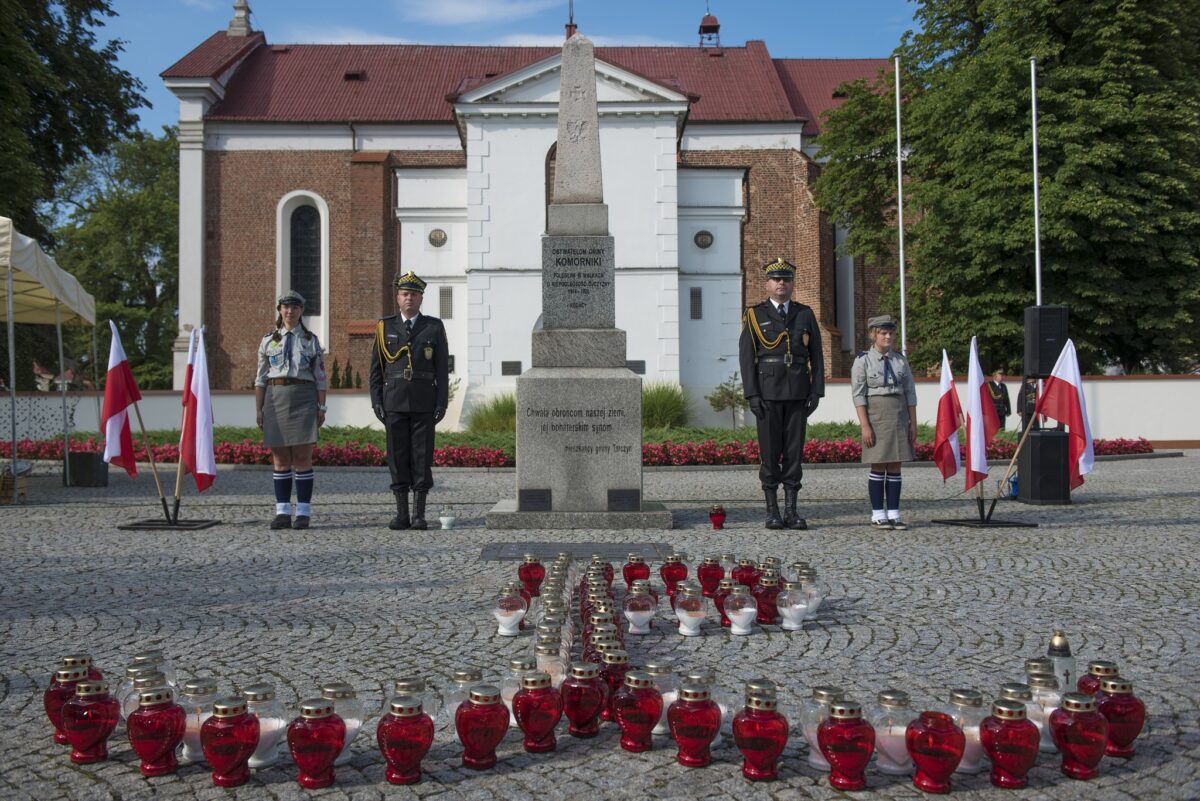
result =
M325 360L305 327L304 296L289 291L275 305L275 330L258 344L254 405L263 445L275 469L272 529L307 529L312 518L312 447L325 424ZM296 489L292 518L292 484Z

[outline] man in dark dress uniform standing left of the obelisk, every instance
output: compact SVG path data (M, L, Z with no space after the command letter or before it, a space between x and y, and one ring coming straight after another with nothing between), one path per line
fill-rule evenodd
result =
M449 403L449 349L442 320L421 314L426 283L412 272L392 282L398 314L376 326L371 350L371 408L388 432L388 469L396 517L388 528L425 529L433 487L433 427ZM408 490L413 490L413 517Z

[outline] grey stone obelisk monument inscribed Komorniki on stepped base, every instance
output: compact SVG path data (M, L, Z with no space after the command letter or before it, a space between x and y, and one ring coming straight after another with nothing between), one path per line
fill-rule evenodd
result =
M600 180L595 54L563 46L554 193L541 240L541 319L517 378L517 496L493 529L671 528L642 499L642 380L616 325L613 239Z

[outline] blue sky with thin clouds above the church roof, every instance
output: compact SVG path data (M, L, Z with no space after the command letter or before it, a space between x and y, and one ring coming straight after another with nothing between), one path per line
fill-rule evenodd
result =
M233 16L233 0L112 0L98 38L125 41L120 65L145 84L142 127L178 119L158 73ZM568 0L250 0L256 30L278 43L557 44ZM721 43L763 40L775 58L887 58L913 26L912 0L710 0ZM599 44L697 43L704 0L576 0Z

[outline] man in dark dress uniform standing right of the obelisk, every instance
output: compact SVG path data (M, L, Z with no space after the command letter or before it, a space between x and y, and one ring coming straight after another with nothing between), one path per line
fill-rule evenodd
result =
M758 477L767 498L768 529L808 529L796 511L804 475L808 417L824 396L821 330L812 309L791 300L796 265L763 266L768 299L745 311L738 356L743 390L758 423ZM784 514L776 489L784 484Z

